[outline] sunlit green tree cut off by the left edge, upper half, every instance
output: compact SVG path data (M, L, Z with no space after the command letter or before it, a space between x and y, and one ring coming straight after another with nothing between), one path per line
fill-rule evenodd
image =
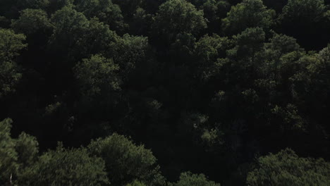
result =
M25 35L17 35L13 30L0 29L0 98L15 92L15 86L22 77L14 58L27 46L23 44L24 40Z

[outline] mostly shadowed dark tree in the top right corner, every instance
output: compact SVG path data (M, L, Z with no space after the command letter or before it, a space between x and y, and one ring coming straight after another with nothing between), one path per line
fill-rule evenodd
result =
M279 15L279 30L298 39L305 49L322 49L330 39L326 10L322 0L289 0Z

